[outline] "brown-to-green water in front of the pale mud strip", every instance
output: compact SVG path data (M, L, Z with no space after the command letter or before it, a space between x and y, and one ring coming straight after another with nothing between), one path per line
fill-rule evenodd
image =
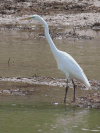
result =
M80 133L100 132L100 110L71 107L73 89L67 96L67 110L63 103L64 89L28 83L0 82L0 132L2 133ZM22 92L25 95L22 95ZM14 92L19 92L14 95ZM86 90L77 89L76 97ZM73 103L74 104L74 103Z

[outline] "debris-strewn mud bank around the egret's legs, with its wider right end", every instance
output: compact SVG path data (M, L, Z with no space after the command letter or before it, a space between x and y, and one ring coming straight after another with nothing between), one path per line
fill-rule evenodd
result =
M35 85L48 85L48 86L58 86L58 87L66 87L66 79L57 79L57 78L49 78L49 77L30 77L30 78L21 78L21 77L13 77L13 78L0 78L0 84L3 83L18 83L20 84L20 88L12 89L12 87L8 87L8 89L3 89L2 87L0 89L0 95L19 95L19 96L27 96L27 95L34 95L34 89L31 89L30 87L36 87ZM89 80L91 86L92 86L92 95L86 91L86 88L84 85L82 85L80 82L75 81L75 84L77 85L77 89L81 90L79 95L76 96L75 103L72 102L72 100L68 101L68 105L71 106L77 106L77 107L85 107L85 108L100 108L100 81L98 80ZM23 84L25 83L25 84ZM26 84L27 83L27 84ZM23 89L21 89L21 87ZM7 88L7 87L6 87ZM25 88L28 88L27 90ZM73 88L72 82L69 80L69 88ZM44 92L47 92L47 88L45 88ZM77 90L76 89L76 90ZM36 89L37 90L37 89ZM43 90L42 90L43 91ZM63 92L64 90L61 90ZM62 93L60 95L64 94ZM72 91L71 91L72 92ZM85 92L85 94L84 94ZM76 91L76 94L78 92ZM81 94L82 93L82 94ZM35 94L36 95L36 94ZM51 94L50 94L51 95ZM56 97L55 97L56 98ZM63 101L63 100L62 100Z

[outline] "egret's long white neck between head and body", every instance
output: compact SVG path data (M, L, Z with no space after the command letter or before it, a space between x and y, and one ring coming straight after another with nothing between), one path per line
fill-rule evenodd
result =
M51 51L52 51L53 55L55 56L56 53L58 52L58 49L57 49L57 47L55 46L55 44L53 43L53 41L52 41L52 39L50 37L49 28L48 28L47 23L43 19L41 19L41 22L42 22L42 24L44 25L44 28L45 28L46 39L47 39L47 41L48 41L48 43L50 45L50 48L51 48Z

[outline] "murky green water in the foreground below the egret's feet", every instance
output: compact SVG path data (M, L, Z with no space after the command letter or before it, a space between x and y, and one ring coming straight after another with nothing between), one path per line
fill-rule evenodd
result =
M37 102L0 104L0 132L90 133L100 132L100 110L68 108Z

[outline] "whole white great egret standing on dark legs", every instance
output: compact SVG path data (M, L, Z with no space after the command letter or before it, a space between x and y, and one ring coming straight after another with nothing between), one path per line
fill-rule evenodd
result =
M42 17L40 17L39 15L32 15L28 18L24 18L21 20L29 20L29 19L38 20L44 25L45 36L50 45L51 51L54 55L54 58L57 62L58 69L61 70L67 78L64 103L66 103L66 95L67 95L67 91L68 91L68 78L70 78L73 83L74 101L75 101L75 87L76 86L74 84L73 79L77 79L77 80L83 82L88 89L90 88L89 81L88 81L87 77L85 76L82 68L78 65L78 63L73 59L73 57L71 55L57 49L57 47L53 43L53 40L50 37L48 25Z

